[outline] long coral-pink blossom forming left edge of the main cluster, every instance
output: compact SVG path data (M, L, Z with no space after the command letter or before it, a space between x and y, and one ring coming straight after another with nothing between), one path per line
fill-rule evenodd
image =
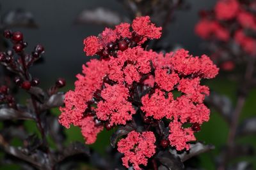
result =
M108 72L108 62L105 60L93 59L86 65L83 66L84 75L77 74L76 89L65 94L65 107L60 108L59 122L67 128L70 124L79 126L83 113L88 108L86 103L91 101L95 91L102 87L102 79Z

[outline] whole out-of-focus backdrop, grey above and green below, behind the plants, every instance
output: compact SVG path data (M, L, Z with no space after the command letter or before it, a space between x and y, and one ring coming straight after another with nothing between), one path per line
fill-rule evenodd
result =
M198 11L202 9L211 9L216 3L215 0L193 0L187 1L190 8L188 10L175 11L175 20L168 25L168 36L166 41L175 46L182 46L193 53L193 55L209 54L202 46L202 39L195 35L194 27L198 21ZM31 69L31 73L41 80L41 86L49 86L54 83L56 78L62 77L67 80L67 87L64 90L72 89L76 80L76 74L81 72L81 66L92 57L86 57L83 52L83 39L90 35L97 35L104 29L103 25L93 24L75 24L77 15L86 9L93 9L99 6L115 10L125 15L122 4L116 0L1 0L1 13L9 10L22 8L31 11L35 18L37 29L13 29L13 31L22 31L26 41L29 42L28 50L32 50L36 44L42 44L45 47L44 63L38 64ZM227 80L225 74L218 76L214 80L206 82L212 90L220 94L231 97L232 102L236 102L237 84ZM243 108L241 120L246 117L256 115L256 89L250 92ZM21 99L22 100L22 99ZM58 114L58 110L55 110ZM28 129L35 132L33 124L28 122ZM83 141L79 129L72 127L66 131L68 140ZM103 132L100 134L97 142L92 145L93 148L104 154L104 149L109 145L109 134ZM196 136L200 141L216 146L216 149L210 153L200 155L200 166L204 169L214 169L214 157L220 153L222 146L227 140L228 125L223 118L214 110L211 110L211 120L205 123L202 131ZM240 138L239 143L252 143L256 146L256 136L246 136ZM53 144L52 144L53 145ZM256 157L243 157L242 160L255 162ZM18 167L0 167L0 169L15 169ZM256 166L254 164L254 169Z

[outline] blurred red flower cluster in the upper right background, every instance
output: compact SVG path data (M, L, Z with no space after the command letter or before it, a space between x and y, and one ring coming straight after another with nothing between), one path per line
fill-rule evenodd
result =
M214 13L207 13L196 24L195 32L204 39L220 41L236 41L244 52L256 55L256 39L246 34L246 31L256 31L256 15L251 3L237 0L219 0ZM234 33L233 33L234 32Z

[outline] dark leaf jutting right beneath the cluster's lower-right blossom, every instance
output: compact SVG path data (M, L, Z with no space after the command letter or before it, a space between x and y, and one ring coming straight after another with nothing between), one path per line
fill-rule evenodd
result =
M185 162L186 160L191 159L191 157L195 157L201 153L209 152L214 148L215 147L213 145L204 145L203 143L197 142L195 144L190 144L190 149L187 152L183 152L181 154L177 153L176 150L171 150L170 152L174 155L178 155L181 162Z

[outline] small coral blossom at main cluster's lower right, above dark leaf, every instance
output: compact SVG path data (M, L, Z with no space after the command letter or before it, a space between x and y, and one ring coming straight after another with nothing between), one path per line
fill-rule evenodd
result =
M194 132L191 128L183 128L182 124L176 120L170 123L169 140L176 150L189 150L189 141L195 141Z

